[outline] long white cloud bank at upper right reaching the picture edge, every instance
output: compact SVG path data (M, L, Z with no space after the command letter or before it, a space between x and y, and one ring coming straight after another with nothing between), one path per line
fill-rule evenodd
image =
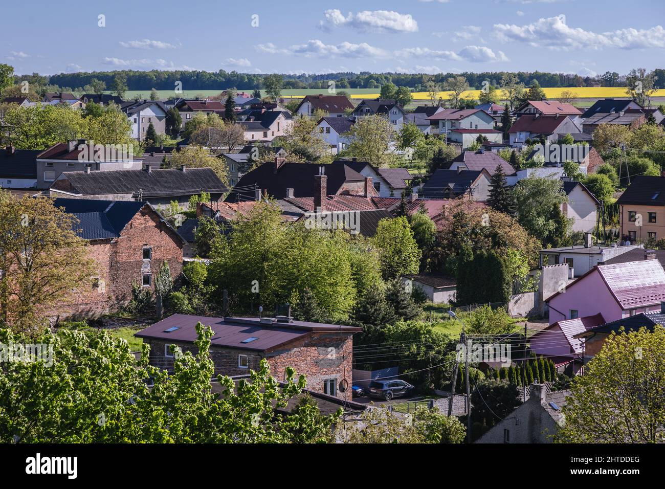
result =
M518 26L495 24L495 36L503 42L527 43L533 47L553 50L665 48L665 29L657 25L651 29L618 29L606 33L585 31L566 25L565 15L539 19L537 22Z

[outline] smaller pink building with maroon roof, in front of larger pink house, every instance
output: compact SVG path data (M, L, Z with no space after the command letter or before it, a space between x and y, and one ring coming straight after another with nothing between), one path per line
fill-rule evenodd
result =
M604 324L602 314L557 321L529 339L531 352L546 355L554 362L557 371L577 373L582 365L582 341L575 335Z

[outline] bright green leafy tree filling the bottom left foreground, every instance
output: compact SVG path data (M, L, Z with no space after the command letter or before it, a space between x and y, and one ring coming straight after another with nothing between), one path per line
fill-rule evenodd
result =
M301 402L287 416L275 414L305 387L287 369L285 385L271 377L266 361L248 381L237 385L218 377L221 394L210 379L209 327L197 325L199 348L176 355L172 375L148 365L144 345L136 361L122 339L108 334L60 331L36 343L53 347L51 363L3 364L0 376L0 442L102 443L285 443L326 442L340 416L321 416ZM0 343L27 338L0 329ZM148 377L154 387L148 387Z

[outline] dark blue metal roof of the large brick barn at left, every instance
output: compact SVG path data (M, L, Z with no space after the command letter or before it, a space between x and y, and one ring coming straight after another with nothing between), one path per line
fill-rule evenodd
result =
M55 207L63 208L78 219L74 230L84 240L118 238L120 232L147 204L133 200L54 199Z

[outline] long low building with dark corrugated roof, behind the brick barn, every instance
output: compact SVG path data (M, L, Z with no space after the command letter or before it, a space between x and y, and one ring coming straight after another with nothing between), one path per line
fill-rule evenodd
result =
M178 202L187 209L190 197L210 194L220 200L228 188L211 168L163 168L109 172L63 172L45 194L73 199L140 200L153 206Z

